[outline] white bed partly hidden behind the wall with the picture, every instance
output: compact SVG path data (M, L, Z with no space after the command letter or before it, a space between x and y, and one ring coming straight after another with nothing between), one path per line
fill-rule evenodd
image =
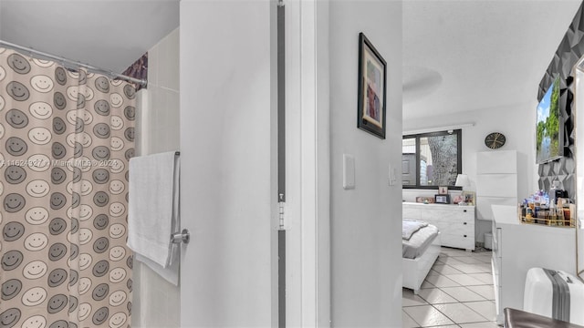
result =
M432 224L417 220L402 220L401 255L405 288L420 291L422 282L440 253L440 231Z

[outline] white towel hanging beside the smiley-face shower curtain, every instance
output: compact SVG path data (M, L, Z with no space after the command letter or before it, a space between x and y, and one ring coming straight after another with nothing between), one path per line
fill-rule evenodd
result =
M128 246L162 269L178 251L179 169L174 151L130 159Z

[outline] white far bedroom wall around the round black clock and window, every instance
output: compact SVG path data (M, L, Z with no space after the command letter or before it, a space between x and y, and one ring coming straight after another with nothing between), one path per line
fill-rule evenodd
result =
M535 121L537 101L503 108L484 108L472 112L422 118L403 122L403 130L451 127L474 123L463 129L463 173L468 174L471 187L476 190L476 153L497 151L485 146L485 136L501 132L506 136L502 150L517 151L517 199L523 200L537 190L537 165L535 159ZM433 196L434 190L403 190L403 199L415 201L416 196ZM476 220L475 239L485 241L484 233L491 231L490 220Z

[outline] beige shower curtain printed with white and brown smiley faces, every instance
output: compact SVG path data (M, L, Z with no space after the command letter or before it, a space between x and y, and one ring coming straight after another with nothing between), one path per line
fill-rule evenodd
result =
M0 47L0 327L127 327L135 88Z

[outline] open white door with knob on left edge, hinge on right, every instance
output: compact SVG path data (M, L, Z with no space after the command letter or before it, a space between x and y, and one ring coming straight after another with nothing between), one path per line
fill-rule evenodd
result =
M275 2L181 1L183 327L269 327Z

